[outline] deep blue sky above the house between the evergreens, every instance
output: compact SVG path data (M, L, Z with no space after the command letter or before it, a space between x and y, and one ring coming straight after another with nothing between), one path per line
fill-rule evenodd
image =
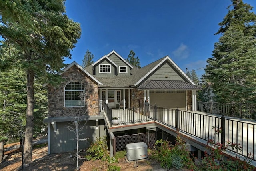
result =
M256 12L256 0L243 2ZM66 0L66 14L81 24L82 35L72 60L65 63L82 64L87 49L94 61L112 50L126 59L132 49L142 67L168 55L183 71L194 69L200 77L230 4L230 0Z

